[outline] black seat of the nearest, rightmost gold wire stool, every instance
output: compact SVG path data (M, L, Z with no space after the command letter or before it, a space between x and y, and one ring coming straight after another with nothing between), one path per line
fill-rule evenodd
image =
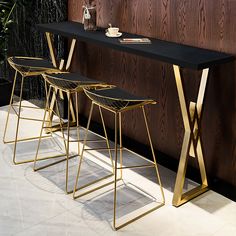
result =
M98 103L98 105L114 111L156 103L152 99L135 96L117 87L102 88L98 90L85 89L85 93L91 100Z

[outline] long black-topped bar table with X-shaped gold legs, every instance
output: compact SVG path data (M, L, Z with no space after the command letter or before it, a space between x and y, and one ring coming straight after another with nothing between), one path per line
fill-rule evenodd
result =
M233 61L234 57L232 55L154 38L150 38L151 44L121 44L118 39L106 37L104 29L99 29L98 31L85 31L81 23L72 21L39 24L38 29L46 34L51 59L55 67L58 65L55 59L52 35L61 35L72 39L65 70L68 70L70 66L77 40L172 64L185 130L172 204L176 207L181 206L208 190L200 136L205 89L210 68L215 65ZM123 33L123 37L143 38L144 36ZM61 60L59 65L60 69L63 69L64 60ZM197 99L196 101L191 101L190 104L187 104L185 98L181 68L202 71ZM201 184L194 189L183 193L189 156L195 157L198 161L201 174Z

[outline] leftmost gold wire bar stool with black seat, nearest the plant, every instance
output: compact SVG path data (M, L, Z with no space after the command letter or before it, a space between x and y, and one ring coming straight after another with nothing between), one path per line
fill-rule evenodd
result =
M25 78L29 78L31 76L41 75L44 72L48 72L48 73L58 72L59 70L57 68L55 68L50 61L45 60L43 58L9 57L8 62L11 65L11 67L13 69L15 69L15 76L14 76L14 81L13 81L10 104L9 104L9 108L8 108L7 120L6 120L6 124L5 124L5 129L4 129L3 142L4 143L14 143L13 163L17 165L17 164L23 164L23 163L28 163L28 162L33 162L34 161L34 159L24 160L24 161L17 161L16 160L16 146L17 146L17 143L21 142L21 141L29 141L29 140L34 140L34 139L39 138L37 136L37 137L18 139L20 120L31 120L31 121L41 121L42 122L42 119L36 119L36 118L33 118L33 117L23 117L23 116L21 116L21 109L22 108L38 109L37 107L22 105L22 93L23 93L24 80L25 80ZM19 105L14 104L14 91L15 91L15 85L16 85L18 73L21 75ZM46 87L45 87L45 93L47 95ZM15 107L18 107L18 112L15 109ZM16 133L15 133L15 139L14 140L6 141L6 133L7 133L7 129L8 129L8 122L9 122L9 116L10 116L11 109L13 109L13 111L17 115Z

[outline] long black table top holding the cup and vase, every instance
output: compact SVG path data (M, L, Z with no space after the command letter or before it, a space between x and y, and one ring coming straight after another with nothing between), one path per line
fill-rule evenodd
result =
M234 60L232 55L226 53L191 47L154 38L149 38L152 41L151 44L121 44L117 38L106 37L104 29L97 31L85 31L81 23L72 21L39 24L38 29L42 32L50 32L68 38L75 38L84 42L100 44L112 49L153 58L159 61L191 69L204 69L212 67L216 64ZM144 36L123 33L122 37L143 38Z

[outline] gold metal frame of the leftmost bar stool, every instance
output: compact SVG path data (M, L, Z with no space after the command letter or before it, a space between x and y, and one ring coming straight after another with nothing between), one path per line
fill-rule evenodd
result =
M16 57L16 58L22 58L22 59L34 59L34 60L42 60L42 58L32 58L32 57ZM22 105L22 93L23 93L23 86L24 86L24 80L25 78L29 76L36 76L36 75L41 75L43 72L48 72L48 73L54 73L58 72L58 69L56 68L40 68L39 71L25 71L23 68L26 68L26 66L20 66L16 65L13 61L12 57L8 58L8 62L11 65L12 68L15 69L15 76L13 80L13 87L12 87L12 93L11 93L11 98L10 98L10 104L8 108L8 114L7 114L7 119L6 119L6 124L4 128L4 135L3 135L3 142L4 143L14 143L14 149L13 149L13 163L18 165L18 164L24 164L28 162L33 162L34 159L29 159L29 160L24 160L24 161L17 161L16 160L16 148L17 148L17 143L22 142L22 141L29 141L29 140L35 140L38 139L39 136L34 136L30 138L18 138L18 133L19 133L19 126L20 126L20 120L31 120L31 121L36 121L36 122L42 122L40 119L33 119L30 117L23 117L21 116L21 109L22 108L27 108L27 109L38 109L37 107L33 106L24 106ZM29 67L30 68L30 67ZM37 68L37 67L34 67ZM19 97L19 105L14 104L14 91L15 91L15 86L16 86L16 80L17 80L17 75L18 73L21 75L21 85L20 85L20 97ZM47 95L47 88L45 86L45 93ZM15 110L14 107L18 107L18 112ZM10 116L10 111L13 109L15 114L17 115L17 126L16 126L16 134L15 134L15 139L14 140L6 140L6 134L7 134L7 129L8 129L8 124L9 124L9 116ZM47 136L44 136L47 137Z

